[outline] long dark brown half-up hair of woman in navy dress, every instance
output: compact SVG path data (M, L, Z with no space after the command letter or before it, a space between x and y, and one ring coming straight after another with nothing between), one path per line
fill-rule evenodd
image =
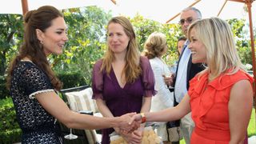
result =
M45 32L52 25L52 20L58 17L63 17L62 13L53 6L42 6L38 10L30 10L24 16L25 32L23 44L18 55L10 62L7 71L7 88L10 90L10 81L13 76L14 67L22 60L22 58L30 58L36 66L43 70L50 78L51 84L56 90L61 90L62 82L54 75L50 64L47 61L46 54L43 51L43 46L39 42L36 29Z

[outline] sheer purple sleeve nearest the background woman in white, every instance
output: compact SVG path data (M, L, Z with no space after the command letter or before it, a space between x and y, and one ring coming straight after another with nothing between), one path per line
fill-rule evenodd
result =
M141 57L142 82L144 86L144 96L151 97L156 94L154 90L154 73L150 66L150 61L146 57Z

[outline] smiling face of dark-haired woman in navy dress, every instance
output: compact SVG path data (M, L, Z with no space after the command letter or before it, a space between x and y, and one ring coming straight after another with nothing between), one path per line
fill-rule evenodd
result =
M42 42L46 55L62 54L63 47L68 40L66 29L66 22L62 17L52 20L51 26L45 32L37 29L38 40Z

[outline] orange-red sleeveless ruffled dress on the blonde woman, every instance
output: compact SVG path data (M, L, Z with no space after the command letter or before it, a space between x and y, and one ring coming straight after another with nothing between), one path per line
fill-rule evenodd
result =
M191 79L190 108L195 128L191 144L228 144L230 142L228 102L232 86L241 80L254 79L246 72L238 70L235 74L221 74L208 83L208 73ZM245 134L246 135L246 134Z

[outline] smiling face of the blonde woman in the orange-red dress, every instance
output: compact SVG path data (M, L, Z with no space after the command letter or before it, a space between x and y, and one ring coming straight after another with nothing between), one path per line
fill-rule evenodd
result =
M194 28L190 30L190 45L192 62L193 63L207 63L206 62L206 46L198 39Z

